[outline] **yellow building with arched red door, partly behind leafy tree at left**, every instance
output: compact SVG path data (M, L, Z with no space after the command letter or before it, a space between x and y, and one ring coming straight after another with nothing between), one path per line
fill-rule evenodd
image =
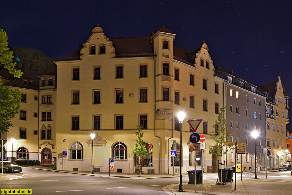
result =
M19 114L11 120L13 126L1 134L1 139L7 140L4 157L8 160L12 160L13 156L15 160L39 160L42 164L52 164L52 158L56 156L55 73L26 70L18 79L8 71L1 70L0 75L4 84L19 87L22 97Z

